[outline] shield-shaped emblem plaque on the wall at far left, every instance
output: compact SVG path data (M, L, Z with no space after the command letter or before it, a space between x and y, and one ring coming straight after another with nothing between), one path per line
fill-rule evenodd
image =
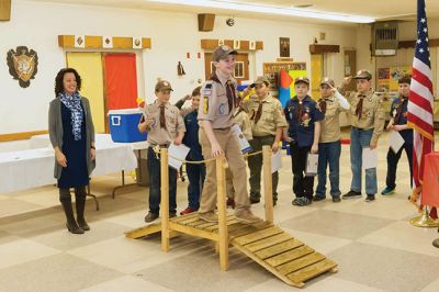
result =
M38 55L26 46L18 46L15 50L10 49L7 55L9 74L13 79L19 80L22 88L31 85L38 71Z

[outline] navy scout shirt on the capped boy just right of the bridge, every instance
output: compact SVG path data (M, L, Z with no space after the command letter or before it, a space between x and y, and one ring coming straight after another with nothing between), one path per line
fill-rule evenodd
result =
M289 123L289 136L299 147L308 147L314 143L314 123L322 121L324 114L317 109L317 103L308 96L302 100L302 114L295 116L299 99L294 97L286 102L284 113Z

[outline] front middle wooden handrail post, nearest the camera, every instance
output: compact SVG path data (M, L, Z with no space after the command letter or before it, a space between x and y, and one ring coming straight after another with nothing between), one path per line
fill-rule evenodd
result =
M216 162L216 192L218 207L218 231L219 231L219 268L228 270L228 232L227 232L227 211L226 211L226 180L225 180L225 157L219 156Z

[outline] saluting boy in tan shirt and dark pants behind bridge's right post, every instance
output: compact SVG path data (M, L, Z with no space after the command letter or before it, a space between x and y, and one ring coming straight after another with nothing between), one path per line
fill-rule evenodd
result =
M243 108L248 112L251 122L254 139L250 141L254 151L260 151L262 146L269 145L273 153L279 150L279 142L282 132L288 127L283 109L278 99L269 94L270 82L267 77L259 77L250 87L256 89L256 96L251 96L243 102ZM250 203L260 201L260 179L262 155L248 157L250 168ZM273 204L278 201L279 172L272 173Z

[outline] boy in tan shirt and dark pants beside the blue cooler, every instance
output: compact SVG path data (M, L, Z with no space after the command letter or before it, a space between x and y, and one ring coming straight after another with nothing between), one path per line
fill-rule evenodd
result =
M158 218L160 211L160 159L154 147L168 147L171 143L180 145L185 132L180 110L169 103L172 88L168 81L161 80L156 85L157 100L145 108L145 116L138 128L148 131L148 171L149 171L149 213L145 222ZM177 170L169 168L169 215L177 214Z

